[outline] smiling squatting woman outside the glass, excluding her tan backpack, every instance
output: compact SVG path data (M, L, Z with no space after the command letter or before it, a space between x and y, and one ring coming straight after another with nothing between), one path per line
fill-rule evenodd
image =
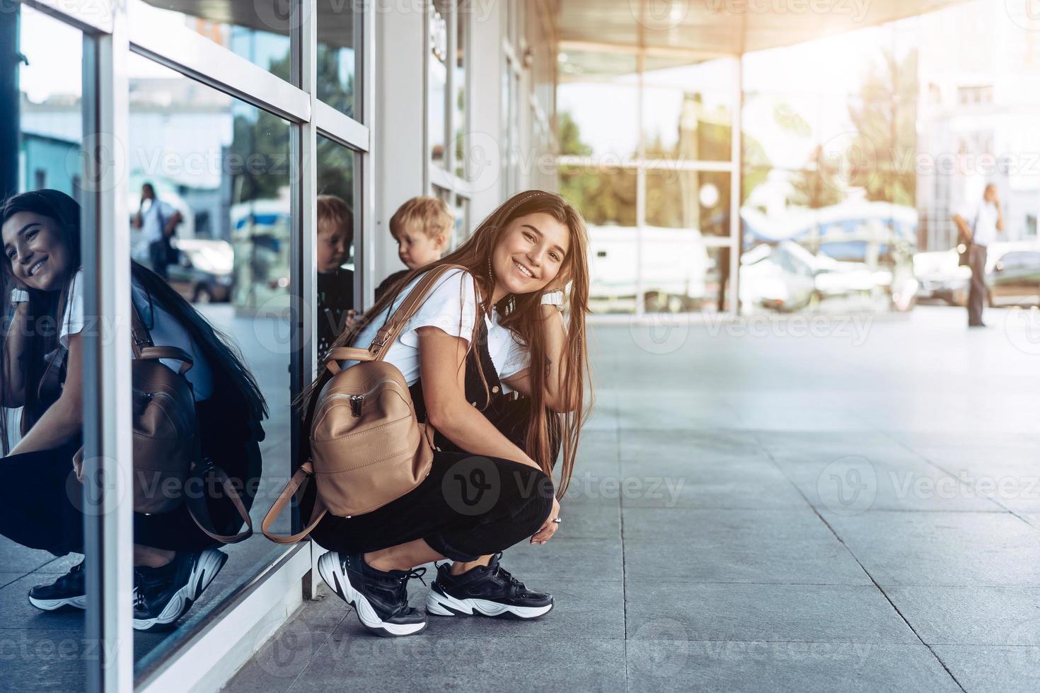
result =
M442 558L454 562L438 566L428 613L534 618L552 608L550 594L524 587L498 559L524 537L544 543L558 526L551 473L562 438L562 495L587 414L587 247L584 222L561 197L521 193L459 249L411 271L334 343L367 347L426 270L467 268L439 279L386 353L408 380L419 420L437 430L431 474L378 510L326 515L312 532L332 550L319 560L322 578L369 630L411 635L425 628L425 614L408 606L406 584L425 571L415 566ZM326 380L302 400L313 404ZM565 412L562 426L557 412ZM303 517L313 504L311 484Z

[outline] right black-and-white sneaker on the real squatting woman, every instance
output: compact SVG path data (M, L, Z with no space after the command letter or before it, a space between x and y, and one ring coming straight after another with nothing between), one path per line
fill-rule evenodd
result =
M487 567L478 565L461 576L448 572L448 564L437 566L437 580L430 586L426 612L437 616L493 616L538 618L552 609L552 595L535 592L498 564L502 552L491 557Z

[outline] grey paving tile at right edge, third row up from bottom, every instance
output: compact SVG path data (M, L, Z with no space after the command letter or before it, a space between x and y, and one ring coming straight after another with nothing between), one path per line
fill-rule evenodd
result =
M1040 585L1040 535L1009 513L822 514L882 586Z

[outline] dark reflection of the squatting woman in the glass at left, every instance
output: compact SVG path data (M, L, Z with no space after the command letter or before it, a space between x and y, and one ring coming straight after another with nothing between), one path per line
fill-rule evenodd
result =
M81 487L73 455L82 445L82 332L103 325L83 315L79 206L57 190L16 195L0 208L4 261L3 407L23 407L21 439L8 450L6 411L0 417L0 533L62 556L82 553ZM158 275L132 263L132 299L156 346L191 354L186 373L196 397L203 454L232 479L260 475L257 441L266 403L234 349ZM178 362L163 364L178 368ZM129 424L129 422L128 422ZM255 484L254 484L255 485ZM242 502L252 504L251 484ZM213 527L237 531L230 503L212 503ZM225 507L228 506L228 507ZM228 528L231 528L230 530ZM186 506L134 514L134 628L173 623L199 598L227 555L191 521ZM29 591L33 606L85 606L80 562L51 585Z

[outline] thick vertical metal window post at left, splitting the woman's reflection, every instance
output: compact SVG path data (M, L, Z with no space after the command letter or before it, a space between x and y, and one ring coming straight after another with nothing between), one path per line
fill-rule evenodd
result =
M115 11L110 33L85 38L83 60L83 311L103 330L83 335L83 552L86 561L85 642L102 643L86 667L89 693L133 687L133 506L129 498L133 441L131 391L130 228L120 158L129 140L126 17ZM88 194L87 194L88 193ZM127 463L130 460L130 463ZM93 463L92 463L93 462ZM88 498L98 499L87 504Z

